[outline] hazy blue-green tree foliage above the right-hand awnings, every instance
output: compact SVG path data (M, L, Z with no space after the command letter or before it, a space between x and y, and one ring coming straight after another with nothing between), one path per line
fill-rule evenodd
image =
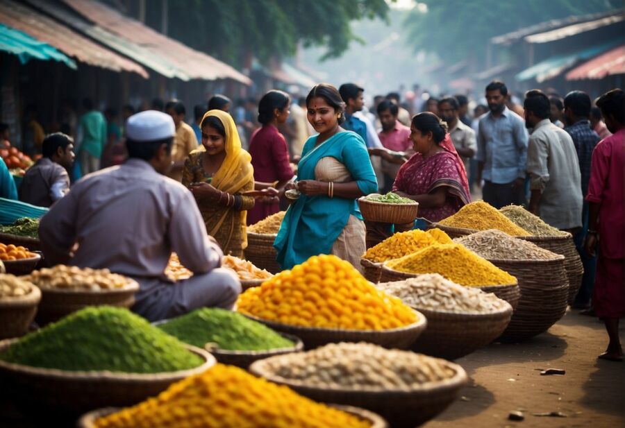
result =
M549 19L619 8L619 0L419 0L406 18L406 36L415 51L436 52L449 62L475 55L484 60L491 37Z

